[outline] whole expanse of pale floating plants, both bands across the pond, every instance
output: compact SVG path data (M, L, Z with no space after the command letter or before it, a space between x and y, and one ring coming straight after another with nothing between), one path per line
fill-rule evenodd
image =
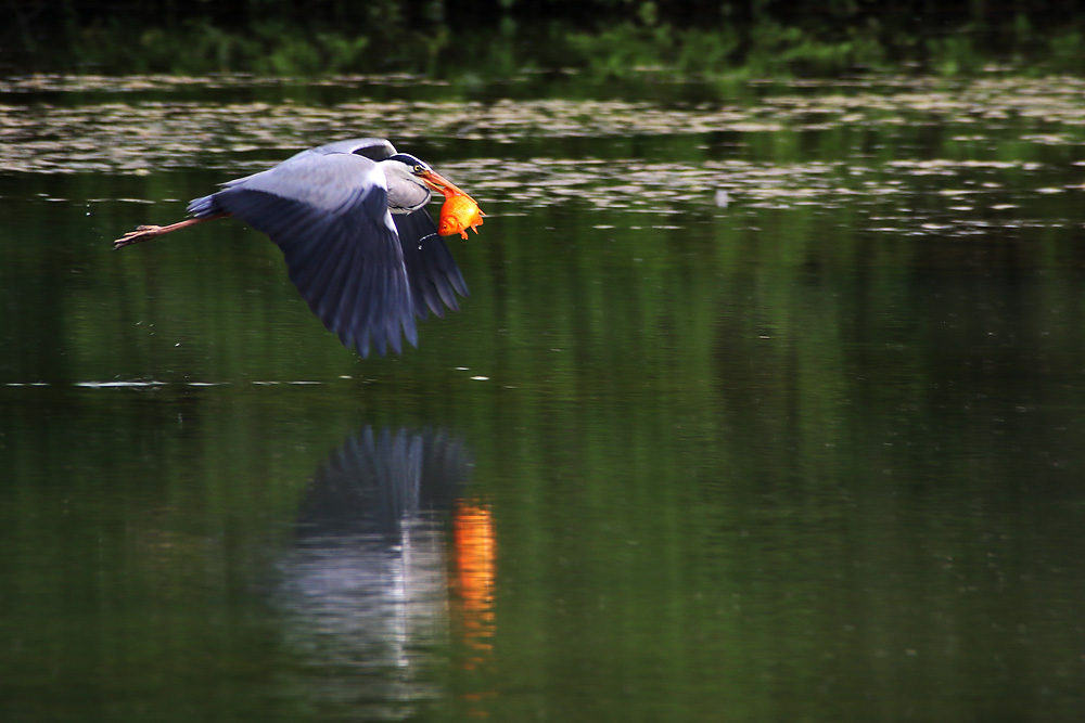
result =
M309 86L346 91L418 80L352 76ZM476 143L483 153L467 154L474 157L465 160L452 155L442 169L480 202L503 206L495 210L506 215L515 214L516 205L566 203L656 215L688 204L717 214L907 204L910 210L896 218L878 211L879 228L952 232L961 224L946 224L939 214L1005 212L1019 207L1022 186L1034 197L1076 188L1080 179L1052 183L1042 158L1051 146L1085 143L1085 81L1074 78L795 81L774 83L741 104L563 99L312 104L289 94L282 102L192 100L201 98L193 90L279 85L284 81L247 76L0 81L8 93L7 104L0 104L0 171L143 176L199 167L232 178L319 142L384 135L408 146ZM935 129L944 140L921 146L917 128ZM674 139L667 147L678 157L637 157L635 139L652 139L656 149L661 139ZM819 149L822 140L832 143ZM1005 152L997 143L1006 144ZM584 157L583 149L592 156ZM1036 180L1030 183L1029 177Z

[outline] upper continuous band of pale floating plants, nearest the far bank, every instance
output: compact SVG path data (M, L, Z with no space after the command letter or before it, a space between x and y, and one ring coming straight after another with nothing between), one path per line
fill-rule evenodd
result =
M395 87L405 79L383 81ZM192 165L237 169L234 156L250 152L263 154L252 159L258 168L280 157L279 151L350 134L516 144L579 138L776 138L866 127L969 125L968 132L954 134L957 142L982 144L997 130L1036 145L1085 143L1085 81L1074 78L985 78L952 85L931 79L795 82L776 87L756 102L682 106L561 99L492 103L359 99L336 104L304 104L289 98L187 100L193 89L283 82L247 76L34 76L0 81L0 92L9 100L0 105L0 170L142 173ZM378 79L352 76L309 85L340 83L349 90L363 82ZM49 102L40 100L41 91L49 92ZM87 91L92 91L92 100L84 102ZM186 92L168 100L173 91ZM102 93L115 95L103 101ZM18 102L21 96L33 101ZM1009 124L1020 130L1007 132Z

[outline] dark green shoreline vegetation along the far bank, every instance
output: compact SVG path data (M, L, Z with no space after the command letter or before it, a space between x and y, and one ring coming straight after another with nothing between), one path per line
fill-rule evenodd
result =
M936 11L905 0L891 11L858 0L799 2L786 11L776 5L787 3L766 0L711 10L692 0L314 0L304 17L284 0L220 4L230 10L200 0L183 13L174 0L14 0L0 31L0 75L451 78L572 70L607 80L644 70L743 78L959 76L992 67L1085 75L1085 17L1058 1L996 12L998 3L983 0Z

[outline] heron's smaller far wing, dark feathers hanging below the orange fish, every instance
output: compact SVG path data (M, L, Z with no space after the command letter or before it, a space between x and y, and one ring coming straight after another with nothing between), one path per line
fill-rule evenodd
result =
M395 214L392 219L399 230L414 313L424 320L429 307L436 317L444 317L442 301L452 311L459 311L456 294L467 296L468 285L448 246L437 235L433 218L420 208L412 214Z

